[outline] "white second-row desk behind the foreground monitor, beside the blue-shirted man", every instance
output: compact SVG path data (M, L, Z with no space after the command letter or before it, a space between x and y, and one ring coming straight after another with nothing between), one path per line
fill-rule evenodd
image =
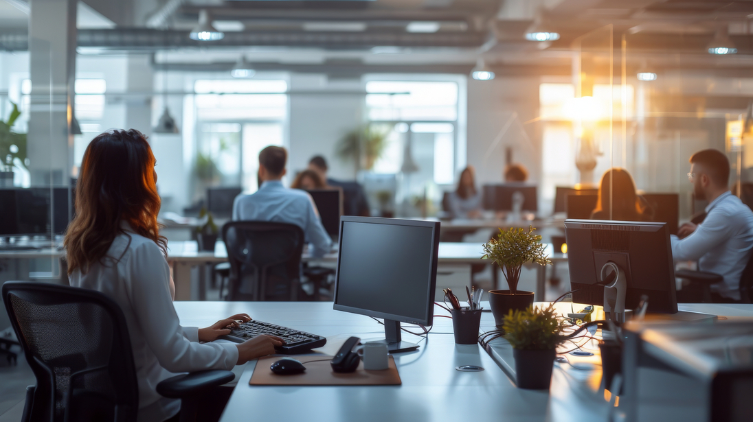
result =
M225 249L224 242L218 241L215 244L214 252L200 252L196 241L169 241L167 247L167 260L172 265L172 278L175 281L175 300L203 299L206 271L202 267L227 262L227 250ZM567 261L566 255L554 253L551 244L547 244L546 254L554 262ZM465 280L465 284L470 284L471 266L474 264L489 263L489 261L481 260L482 256L483 247L480 243L441 242L439 244L439 259L437 260L437 291L441 291L442 287L462 289L462 286L457 284L457 281L454 281L455 284L453 285L443 285L446 284L444 281L445 277L448 279L462 278ZM304 253L302 260L308 263L334 266L337 263L337 253L326 254L322 258L313 258L311 255ZM529 266L532 265L529 264ZM200 266L198 284L191 282L191 268L194 266ZM534 266L536 267L535 298L543 300L546 284L546 267Z

